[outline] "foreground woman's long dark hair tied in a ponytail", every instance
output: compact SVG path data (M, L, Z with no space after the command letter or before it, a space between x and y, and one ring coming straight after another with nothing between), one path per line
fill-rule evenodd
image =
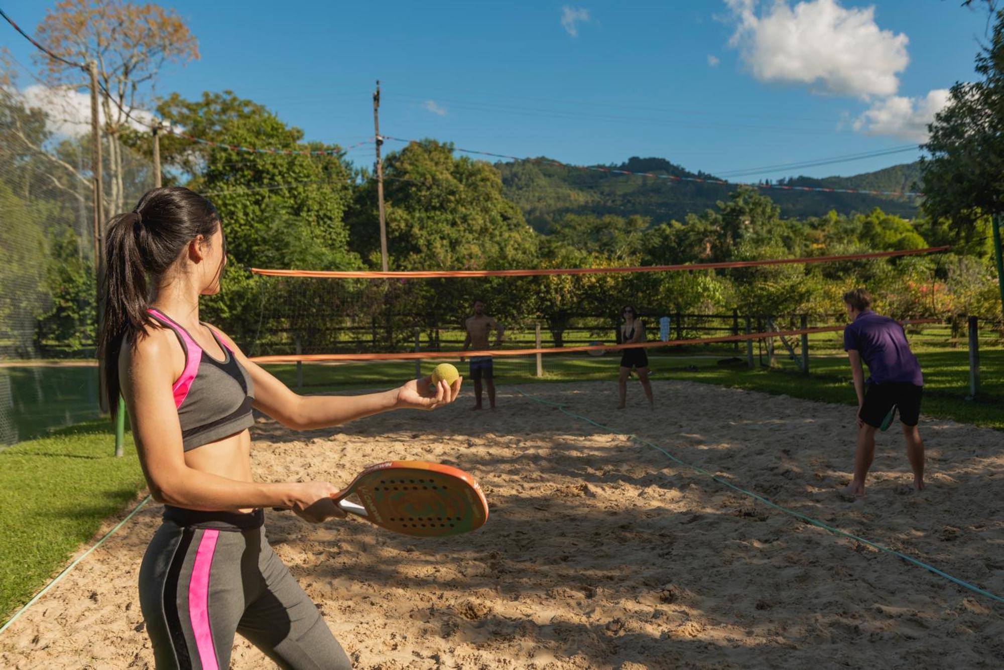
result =
M104 373L108 407L118 407L118 354L127 339L136 346L145 329L157 326L147 313L151 286L157 286L185 247L220 226L213 204L188 189L169 187L144 194L136 209L108 223L104 234L104 319L98 335L98 358Z

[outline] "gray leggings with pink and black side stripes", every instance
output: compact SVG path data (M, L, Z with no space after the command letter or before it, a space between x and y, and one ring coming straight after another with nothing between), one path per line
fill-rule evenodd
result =
M221 530L166 520L143 559L140 604L158 670L226 669L235 632L280 668L351 668L263 527Z

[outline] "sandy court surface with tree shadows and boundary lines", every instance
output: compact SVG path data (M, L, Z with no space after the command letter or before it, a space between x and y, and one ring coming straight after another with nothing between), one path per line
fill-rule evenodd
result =
M921 493L902 436L882 434L868 495L848 502L849 406L659 381L656 411L637 383L617 411L612 382L525 390L1004 595L1000 432L922 419ZM470 393L339 429L253 429L261 479L347 483L380 460L427 459L485 489L488 525L446 541L268 513L275 551L356 668L1000 667L1004 604L512 387L494 412L469 411ZM136 585L159 514L142 511L0 637L0 666L148 667ZM232 667L271 664L238 638Z

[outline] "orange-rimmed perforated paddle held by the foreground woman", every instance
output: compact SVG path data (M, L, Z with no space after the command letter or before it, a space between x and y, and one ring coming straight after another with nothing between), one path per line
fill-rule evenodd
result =
M350 515L416 538L470 533L488 521L488 501L474 477L425 460L370 465L334 501Z

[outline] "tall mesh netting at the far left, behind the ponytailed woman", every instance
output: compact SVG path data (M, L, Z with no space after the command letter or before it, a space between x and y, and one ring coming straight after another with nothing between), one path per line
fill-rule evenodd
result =
M98 415L89 133L0 91L0 444ZM149 159L102 137L105 215L153 187Z

